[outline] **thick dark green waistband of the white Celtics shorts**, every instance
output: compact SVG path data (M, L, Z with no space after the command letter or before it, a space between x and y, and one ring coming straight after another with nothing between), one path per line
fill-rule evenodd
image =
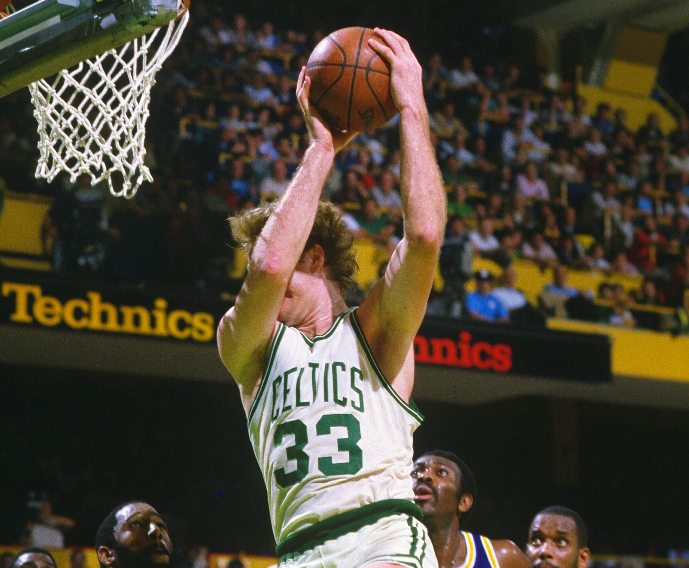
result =
M413 516L419 520L424 517L418 505L407 499L385 499L331 516L321 520L320 523L291 534L282 540L275 549L275 553L282 563L322 545L327 540L340 538L350 532L358 531L361 527L373 525L381 518L397 514L407 514L410 515L409 518Z

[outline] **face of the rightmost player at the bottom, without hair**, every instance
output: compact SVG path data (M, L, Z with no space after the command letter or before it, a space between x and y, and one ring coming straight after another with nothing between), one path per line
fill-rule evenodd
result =
M577 568L579 547L574 520L555 514L537 515L528 531L526 558L531 568Z

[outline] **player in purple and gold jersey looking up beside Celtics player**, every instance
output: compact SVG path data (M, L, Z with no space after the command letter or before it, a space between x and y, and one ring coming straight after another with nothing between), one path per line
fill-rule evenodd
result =
M473 473L455 454L426 452L414 462L411 478L440 568L528 568L524 553L510 540L460 529L477 491Z

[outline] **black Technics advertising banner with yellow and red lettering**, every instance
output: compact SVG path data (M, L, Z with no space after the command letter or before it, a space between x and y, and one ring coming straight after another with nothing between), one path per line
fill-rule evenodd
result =
M229 302L151 295L50 277L0 280L0 325L212 344ZM610 380L606 335L426 317L418 364L586 382Z

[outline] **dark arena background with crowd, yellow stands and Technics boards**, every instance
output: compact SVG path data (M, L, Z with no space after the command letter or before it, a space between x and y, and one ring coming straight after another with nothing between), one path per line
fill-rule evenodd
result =
M523 548L533 515L564 505L586 520L590 567L689 565L689 1L190 12L152 90L154 182L132 200L34 178L29 92L0 101L0 552L32 543L49 502L73 521L58 568L83 568L75 549L98 568L99 523L142 499L175 568L276 563L216 348L247 266L227 218L284 193L309 143L300 66L356 25L409 39L447 191L414 342L415 455L472 468L463 529ZM351 306L402 236L399 148L394 119L362 133L325 185L356 238ZM488 293L504 311L482 311Z

